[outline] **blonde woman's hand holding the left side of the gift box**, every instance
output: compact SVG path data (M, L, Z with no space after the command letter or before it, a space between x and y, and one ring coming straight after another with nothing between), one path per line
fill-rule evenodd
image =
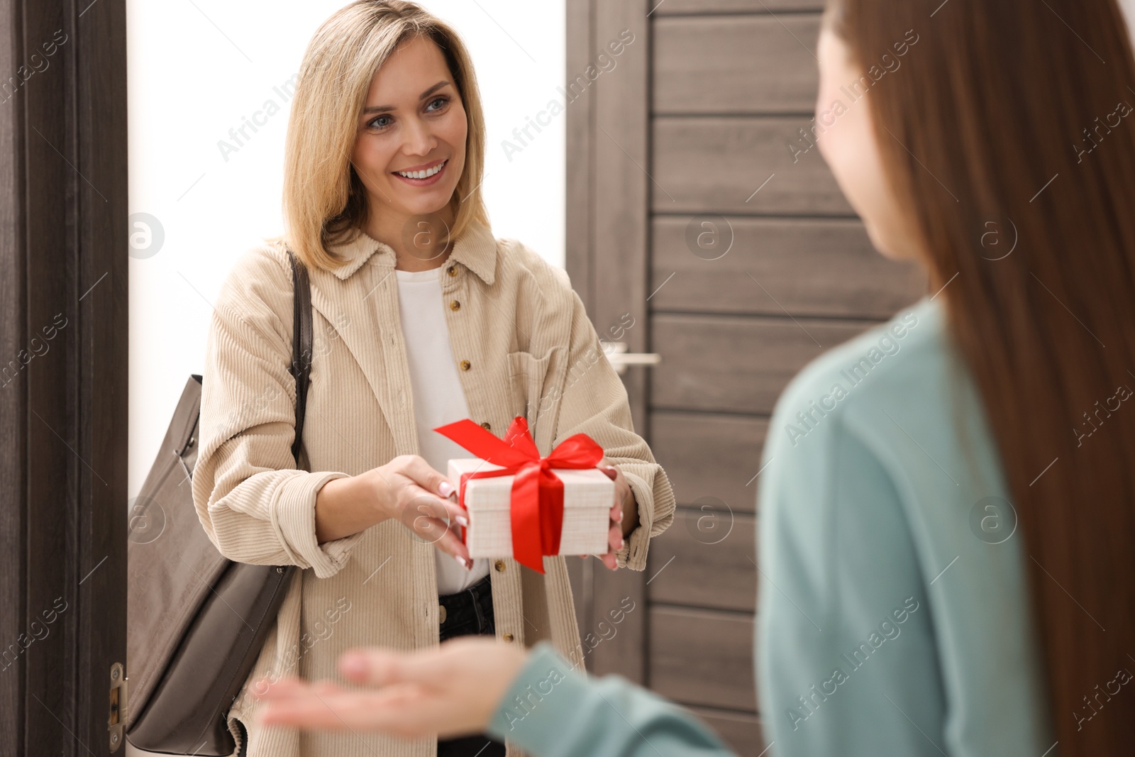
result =
M398 455L372 469L382 520L394 519L421 540L453 555L465 569L472 566L469 550L452 528L469 525L469 513L449 499L453 482L418 455Z

